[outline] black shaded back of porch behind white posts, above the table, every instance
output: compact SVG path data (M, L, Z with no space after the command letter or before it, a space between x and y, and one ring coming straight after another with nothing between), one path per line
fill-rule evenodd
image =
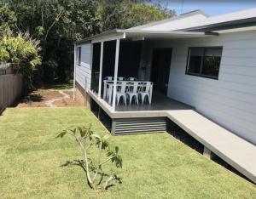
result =
M141 45L142 43L140 42L120 41L118 77L137 77L141 59ZM104 77L113 77L114 75L115 48L115 41L104 42L102 79L104 79ZM96 93L98 93L99 88L100 56L101 43L94 43L91 71L91 90L95 91Z

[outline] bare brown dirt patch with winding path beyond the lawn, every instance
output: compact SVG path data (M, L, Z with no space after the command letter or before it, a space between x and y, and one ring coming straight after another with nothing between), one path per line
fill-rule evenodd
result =
M68 94L69 98L62 99L63 94L58 90L38 89L33 91L31 94L28 94L24 99L21 99L20 103L18 103L16 107L49 107L47 102L52 99L60 99L53 102L53 105L57 107L84 105L84 99L82 96L78 95L76 99L73 100L73 91L67 90L62 92Z

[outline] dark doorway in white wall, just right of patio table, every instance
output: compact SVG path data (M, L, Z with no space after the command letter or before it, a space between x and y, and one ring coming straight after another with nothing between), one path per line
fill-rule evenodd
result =
M172 48L154 48L150 80L154 90L162 94L167 94L171 60Z

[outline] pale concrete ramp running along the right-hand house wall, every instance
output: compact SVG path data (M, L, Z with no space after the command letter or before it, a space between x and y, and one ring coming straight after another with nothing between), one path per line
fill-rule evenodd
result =
M210 151L256 183L256 146L193 110L167 111L167 117Z

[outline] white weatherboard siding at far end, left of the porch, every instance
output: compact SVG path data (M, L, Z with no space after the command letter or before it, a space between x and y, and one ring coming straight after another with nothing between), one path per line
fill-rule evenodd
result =
M77 47L82 47L82 49L81 65L76 64L76 82L79 82L82 88L85 88L86 84L86 89L90 89L92 45L91 43L83 43Z

